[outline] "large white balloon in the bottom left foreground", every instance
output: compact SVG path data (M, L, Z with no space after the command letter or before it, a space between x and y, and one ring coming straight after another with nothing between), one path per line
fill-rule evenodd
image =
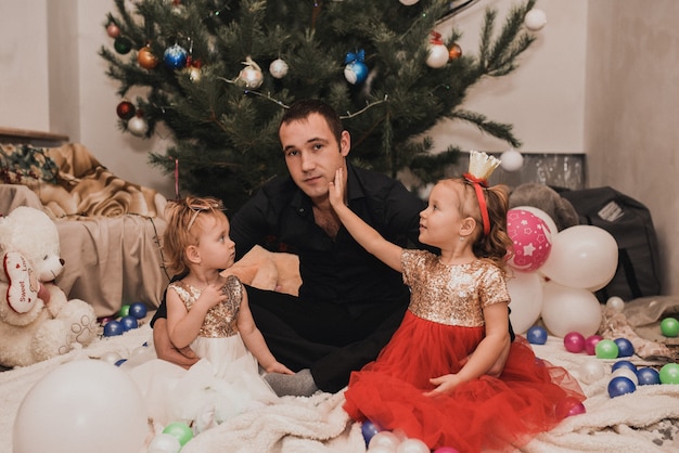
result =
M99 360L59 365L30 388L14 422L14 453L139 452L142 396L127 373Z

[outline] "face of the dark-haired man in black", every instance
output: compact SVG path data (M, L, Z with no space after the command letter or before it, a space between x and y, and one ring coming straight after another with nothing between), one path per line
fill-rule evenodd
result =
M313 200L326 199L328 184L334 180L335 171L346 169L349 133L344 131L337 143L325 119L311 114L306 119L281 125L279 137L295 184Z

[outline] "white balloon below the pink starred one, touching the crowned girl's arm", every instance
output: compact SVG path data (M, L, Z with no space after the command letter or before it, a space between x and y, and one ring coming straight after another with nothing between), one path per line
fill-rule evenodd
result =
M510 321L517 334L535 325L542 311L542 279L535 272L515 271L507 281L510 297Z

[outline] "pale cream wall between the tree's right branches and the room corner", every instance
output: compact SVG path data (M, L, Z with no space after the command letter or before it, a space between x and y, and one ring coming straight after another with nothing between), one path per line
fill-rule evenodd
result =
M462 33L462 52L477 54L486 8L498 10L497 30L517 1L483 0L453 17ZM464 108L488 119L513 125L523 153L584 153L585 59L587 50L586 0L538 0L547 25L518 60L509 76L487 78L470 90ZM441 27L441 33L445 28ZM502 152L508 144L483 135L469 125L446 120L434 128L436 145Z

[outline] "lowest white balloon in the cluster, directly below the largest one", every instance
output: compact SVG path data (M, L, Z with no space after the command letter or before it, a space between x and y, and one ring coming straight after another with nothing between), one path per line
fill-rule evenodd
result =
M556 337L578 332L592 336L601 325L601 306L587 289L562 286L555 282L542 285L542 322Z

